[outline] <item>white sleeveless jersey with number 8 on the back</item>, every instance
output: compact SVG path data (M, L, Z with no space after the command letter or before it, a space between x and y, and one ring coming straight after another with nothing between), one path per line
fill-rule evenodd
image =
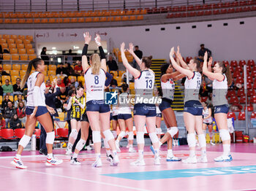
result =
M86 102L91 100L104 100L104 87L106 74L103 69L99 69L99 75L91 73L91 68L84 74L86 82Z

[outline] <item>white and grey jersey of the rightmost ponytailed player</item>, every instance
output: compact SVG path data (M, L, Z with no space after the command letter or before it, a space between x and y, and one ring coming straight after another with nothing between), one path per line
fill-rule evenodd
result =
M214 79L214 82L212 82L212 102L214 106L227 104L227 77L225 74L223 74L223 76L224 79L222 81Z

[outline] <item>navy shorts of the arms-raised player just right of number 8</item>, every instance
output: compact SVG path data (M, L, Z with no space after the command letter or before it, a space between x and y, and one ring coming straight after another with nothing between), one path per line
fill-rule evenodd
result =
M156 117L156 106L154 104L135 104L133 114Z

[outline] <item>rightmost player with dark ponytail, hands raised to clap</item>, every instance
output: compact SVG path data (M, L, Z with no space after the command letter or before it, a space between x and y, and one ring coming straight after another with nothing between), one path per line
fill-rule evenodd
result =
M219 136L222 139L223 154L214 160L216 162L230 162L233 160L230 155L230 133L227 128L227 112L229 110L227 104L227 87L231 85L232 79L230 74L230 66L225 63L217 62L214 65L214 72L211 71L211 59L207 66L207 52L204 55L203 74L211 80L213 86L213 104L214 118L219 128Z

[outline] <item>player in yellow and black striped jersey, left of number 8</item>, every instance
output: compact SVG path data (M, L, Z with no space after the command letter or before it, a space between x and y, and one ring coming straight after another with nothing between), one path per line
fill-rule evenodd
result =
M70 114L70 123L72 129L69 135L69 143L67 144L66 155L72 155L72 147L78 137L78 132L81 128L81 119L85 106L86 100L83 96L83 87L77 87L75 90L75 96L69 98L69 104L67 105L67 110L70 108L72 109Z

